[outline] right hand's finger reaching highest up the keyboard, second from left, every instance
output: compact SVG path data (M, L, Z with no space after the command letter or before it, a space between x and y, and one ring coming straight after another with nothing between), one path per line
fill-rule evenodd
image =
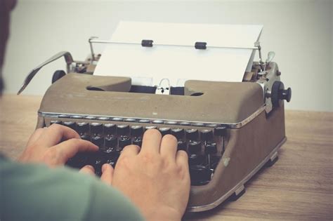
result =
M142 147L140 154L159 153L162 135L156 129L146 130L143 134Z

